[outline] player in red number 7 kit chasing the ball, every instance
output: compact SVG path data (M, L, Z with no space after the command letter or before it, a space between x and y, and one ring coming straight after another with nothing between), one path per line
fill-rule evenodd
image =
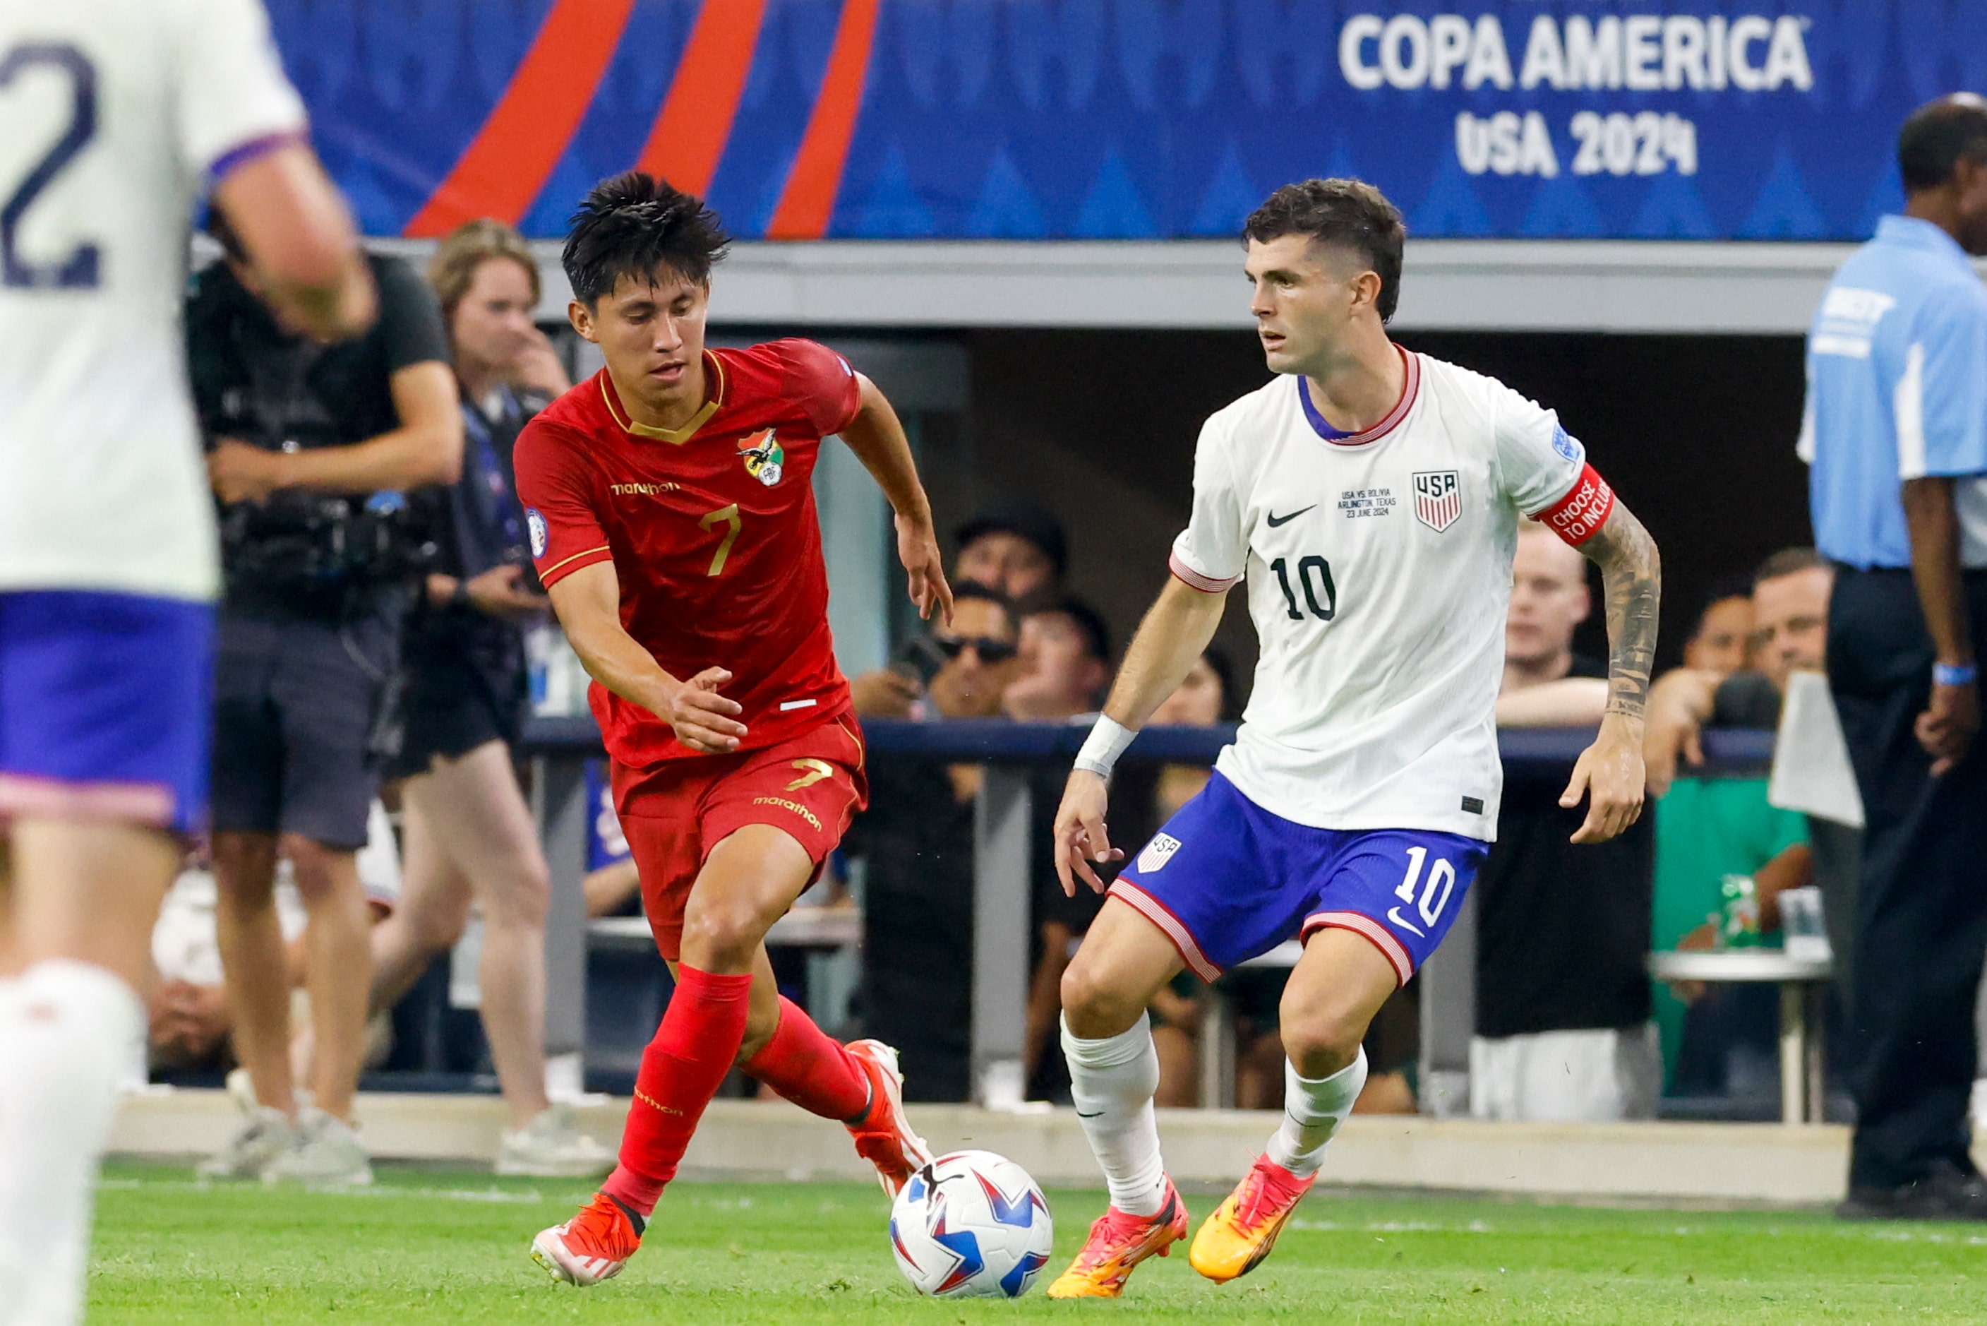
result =
M896 1052L841 1046L779 996L765 932L868 801L829 638L811 477L841 435L896 511L918 612L952 616L932 507L882 392L807 340L707 350L727 247L703 203L640 171L574 215L570 318L606 368L517 441L517 491L552 606L594 676L614 805L676 972L642 1056L620 1165L533 1241L554 1278L620 1272L733 1064L841 1119L884 1191L930 1159Z

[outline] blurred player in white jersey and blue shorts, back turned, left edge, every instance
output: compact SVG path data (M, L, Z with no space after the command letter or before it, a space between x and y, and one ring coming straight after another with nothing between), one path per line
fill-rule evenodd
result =
M213 499L179 300L207 185L280 312L372 320L258 0L0 0L0 1322L81 1310L159 899L207 799Z

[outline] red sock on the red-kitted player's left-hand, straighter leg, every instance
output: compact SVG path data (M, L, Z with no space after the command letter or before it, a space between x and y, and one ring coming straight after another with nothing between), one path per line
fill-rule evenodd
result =
M676 992L634 1077L620 1165L600 1185L602 1193L644 1219L676 1177L703 1107L737 1060L749 992L751 972L713 976L688 962L676 968Z

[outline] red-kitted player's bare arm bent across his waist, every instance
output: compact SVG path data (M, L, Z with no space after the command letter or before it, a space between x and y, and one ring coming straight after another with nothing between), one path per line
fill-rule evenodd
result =
M614 563L580 567L556 580L550 594L566 642L596 682L670 724L676 740L693 751L723 755L737 749L745 736L745 724L737 722L743 708L717 694L731 674L705 668L680 682L636 644L620 624L620 579Z

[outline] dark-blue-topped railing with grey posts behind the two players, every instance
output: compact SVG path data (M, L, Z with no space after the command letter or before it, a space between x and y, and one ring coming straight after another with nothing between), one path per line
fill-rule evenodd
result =
M1146 728L1127 761L1214 763L1234 740L1234 724L1212 728ZM1023 1093L1025 1008L1029 984L1029 861L1033 811L1027 769L1065 765L1087 736L1067 724L1007 720L946 720L914 724L868 720L862 734L870 755L984 763L974 807L974 992L972 1081L976 1097L1011 1105ZM1506 781L1564 779L1592 728L1510 728L1498 732ZM590 716L533 718L525 753L535 763L533 811L552 873L546 916L548 1056L586 1050L586 875L588 759L602 755ZM1707 732L1699 777L1762 777L1772 761L1770 732ZM1476 1028L1476 895L1464 899L1449 938L1421 968L1421 1081L1425 1109L1449 1113L1468 1099L1468 1052ZM1447 1105L1445 1105L1447 1101ZM1466 1103L1462 1105L1466 1109Z

